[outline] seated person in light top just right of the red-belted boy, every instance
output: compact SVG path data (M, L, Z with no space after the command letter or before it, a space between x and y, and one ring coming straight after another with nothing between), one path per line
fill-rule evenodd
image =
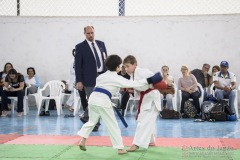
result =
M172 98L174 94L174 85L173 85L173 77L169 75L169 67L162 66L162 76L163 81L167 84L167 89L159 90L161 95L161 101L163 108L166 108L166 103L168 109L173 109ZM163 101L166 100L166 101Z

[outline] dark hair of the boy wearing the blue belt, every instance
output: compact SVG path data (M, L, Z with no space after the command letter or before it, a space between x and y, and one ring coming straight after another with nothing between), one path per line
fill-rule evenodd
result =
M122 64L122 59L118 55L110 55L105 60L105 65L108 70L116 71L117 67Z

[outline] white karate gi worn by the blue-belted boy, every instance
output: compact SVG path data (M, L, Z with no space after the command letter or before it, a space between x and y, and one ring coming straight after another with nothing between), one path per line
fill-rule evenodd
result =
M107 71L101 74L97 77L96 81L96 87L106 89L112 95L116 94L119 88L137 88L138 90L145 91L151 86L147 83L146 79L130 81L119 76L115 71ZM113 148L123 149L121 131L118 127L110 98L104 93L92 92L89 97L88 107L89 121L82 126L78 135L88 138L101 117L107 127Z

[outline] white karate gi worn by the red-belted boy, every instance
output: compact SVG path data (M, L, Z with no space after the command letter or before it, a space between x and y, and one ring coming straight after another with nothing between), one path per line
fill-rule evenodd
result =
M139 80L152 76L153 73L148 69L137 67L134 71L134 76L130 79ZM140 91L134 90L140 95ZM141 111L137 119L137 128L133 140L133 144L148 148L149 143L153 143L156 134L156 119L161 110L161 98L158 90L152 90L145 94L141 104Z

